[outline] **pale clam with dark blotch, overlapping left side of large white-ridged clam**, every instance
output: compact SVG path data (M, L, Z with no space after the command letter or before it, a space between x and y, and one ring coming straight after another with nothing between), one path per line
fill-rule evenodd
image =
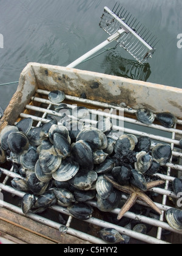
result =
M49 150L42 150L39 154L39 163L45 174L53 174L61 165L62 158L56 154L54 146Z

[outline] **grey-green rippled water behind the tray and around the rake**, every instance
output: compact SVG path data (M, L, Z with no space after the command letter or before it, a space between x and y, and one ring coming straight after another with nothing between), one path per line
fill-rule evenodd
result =
M1 0L0 84L17 81L29 62L66 66L97 44L107 34L98 24L110 0ZM118 47L105 52L80 69L131 77L132 79L182 88L182 49L177 35L182 34L181 0L119 0L145 24L160 42L149 64L138 65ZM112 43L110 47L115 46ZM0 105L5 108L17 84L0 87Z

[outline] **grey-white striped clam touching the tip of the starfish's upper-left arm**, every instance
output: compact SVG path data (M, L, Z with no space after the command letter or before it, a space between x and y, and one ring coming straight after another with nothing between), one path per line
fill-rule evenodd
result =
M104 176L99 176L96 182L96 191L103 199L107 199L113 192L113 185Z

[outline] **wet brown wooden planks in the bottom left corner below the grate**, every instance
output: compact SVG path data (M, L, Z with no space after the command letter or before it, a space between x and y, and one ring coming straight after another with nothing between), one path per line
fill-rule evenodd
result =
M0 207L0 232L7 233L30 244L85 244L74 236L62 234L59 230L33 221L26 216L18 215Z

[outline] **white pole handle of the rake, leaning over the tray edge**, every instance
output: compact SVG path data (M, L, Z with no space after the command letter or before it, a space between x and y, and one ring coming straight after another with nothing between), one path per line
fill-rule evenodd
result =
M74 62L70 63L70 65L68 65L67 68L75 68L75 66L78 66L84 60L88 59L90 56L92 56L93 54L95 54L99 50L103 49L105 46L107 46L108 44L110 44L113 41L117 40L121 36L121 34L123 34L124 32L126 32L124 29L118 30L111 37L107 38L106 41L104 41L103 43L99 44L98 46L96 46L95 48L93 48L92 50L90 50L89 52L84 54L83 56L79 57L79 59L77 59Z

